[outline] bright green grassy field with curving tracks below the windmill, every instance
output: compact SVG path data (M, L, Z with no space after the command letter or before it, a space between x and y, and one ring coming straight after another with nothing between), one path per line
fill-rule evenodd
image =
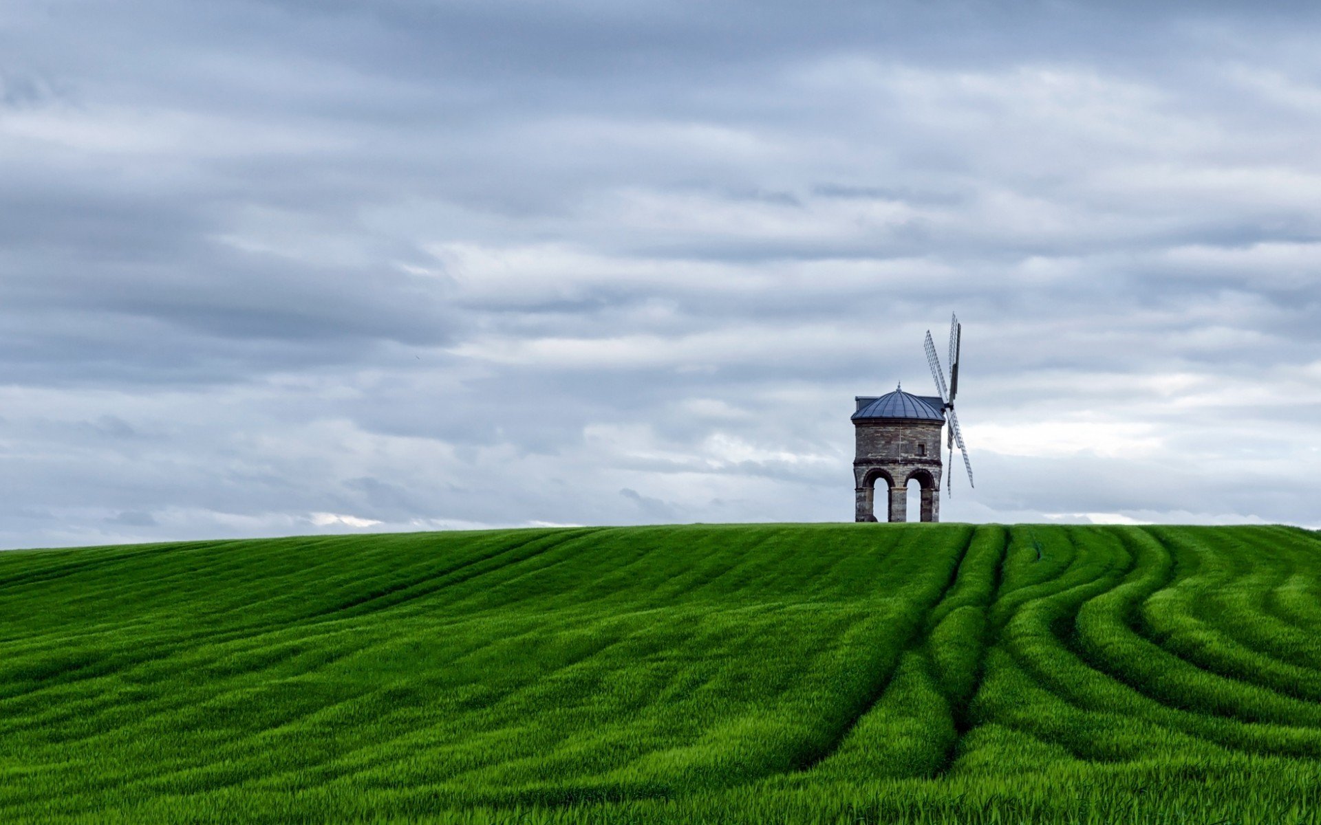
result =
M0 553L0 822L1321 822L1321 536Z

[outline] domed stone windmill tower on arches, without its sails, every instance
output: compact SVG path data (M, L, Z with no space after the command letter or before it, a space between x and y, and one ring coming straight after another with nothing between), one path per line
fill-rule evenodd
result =
M945 401L896 389L880 397L857 396L853 432L856 520L876 521L876 486L885 483L889 521L908 520L908 483L922 486L922 520L941 520L941 432Z

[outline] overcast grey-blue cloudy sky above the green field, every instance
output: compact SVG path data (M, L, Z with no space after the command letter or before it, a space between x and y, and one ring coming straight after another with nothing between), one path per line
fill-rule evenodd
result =
M7 0L0 546L1321 525L1314 4ZM1156 11L1160 7L1162 11Z

